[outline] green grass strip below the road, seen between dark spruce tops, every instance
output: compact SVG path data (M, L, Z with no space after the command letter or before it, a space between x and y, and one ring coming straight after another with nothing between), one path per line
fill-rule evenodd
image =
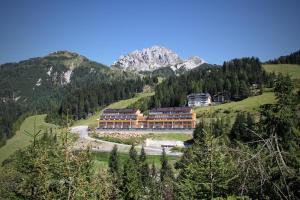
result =
M109 152L93 152L92 157L94 160L95 169L100 167L108 167ZM123 165L128 159L128 153L119 153L119 159ZM180 157L167 156L170 163L175 163L180 159ZM147 161L149 164L154 163L156 167L160 167L160 155L147 155Z

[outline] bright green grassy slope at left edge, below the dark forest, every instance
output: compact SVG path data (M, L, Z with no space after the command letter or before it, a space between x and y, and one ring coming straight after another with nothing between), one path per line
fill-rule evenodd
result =
M20 130L0 148L0 163L12 155L16 150L26 147L30 144L31 138L24 134L25 130L33 132L34 121L36 122L36 131L54 128L55 125L45 123L46 115L35 115L27 117L20 126Z

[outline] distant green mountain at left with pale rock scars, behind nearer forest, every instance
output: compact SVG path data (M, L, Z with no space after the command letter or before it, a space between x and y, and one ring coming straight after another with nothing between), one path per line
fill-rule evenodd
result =
M0 65L0 100L26 100L34 95L49 96L86 76L103 76L110 68L68 51L57 51L18 63Z

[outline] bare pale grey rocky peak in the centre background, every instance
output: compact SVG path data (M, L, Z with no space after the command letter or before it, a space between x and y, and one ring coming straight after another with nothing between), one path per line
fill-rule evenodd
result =
M173 71L179 69L190 70L205 63L199 57L183 60L178 54L161 46L153 46L142 50L135 50L112 64L115 69L125 71L154 71L162 67L170 67Z

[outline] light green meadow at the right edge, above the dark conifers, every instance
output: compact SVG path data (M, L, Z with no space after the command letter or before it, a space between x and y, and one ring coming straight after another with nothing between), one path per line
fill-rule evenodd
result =
M267 72L274 72L275 74L288 74L292 79L300 79L300 65L296 64L265 64L263 68Z

